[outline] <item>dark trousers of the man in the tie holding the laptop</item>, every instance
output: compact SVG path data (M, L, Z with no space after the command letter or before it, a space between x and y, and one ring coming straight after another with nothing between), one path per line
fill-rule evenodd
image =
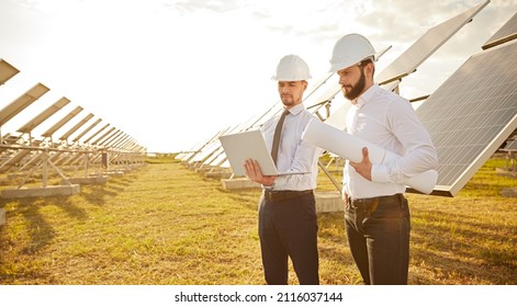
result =
M260 201L259 237L266 282L288 284L288 257L301 285L319 284L314 194Z

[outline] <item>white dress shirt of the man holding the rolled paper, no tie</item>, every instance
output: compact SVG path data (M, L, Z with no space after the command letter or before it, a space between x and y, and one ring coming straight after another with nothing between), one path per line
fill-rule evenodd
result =
M437 168L430 135L404 98L373 84L350 107L346 121L351 135L401 156L384 164L373 164L372 181L358 174L347 161L344 190L349 196L364 198L404 193L405 179Z

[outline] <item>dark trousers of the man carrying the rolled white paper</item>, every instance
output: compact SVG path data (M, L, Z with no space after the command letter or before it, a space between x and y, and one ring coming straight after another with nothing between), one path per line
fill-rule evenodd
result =
M364 284L407 284L411 215L402 194L349 200L345 223Z

